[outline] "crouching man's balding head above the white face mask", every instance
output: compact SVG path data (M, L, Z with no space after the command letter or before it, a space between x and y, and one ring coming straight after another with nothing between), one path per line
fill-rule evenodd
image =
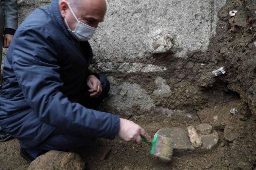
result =
M107 10L105 0L59 0L60 14L70 23L71 30L75 28L72 26L75 20L72 19L73 14L67 4L71 6L79 21L92 27L97 27L99 22L103 21Z

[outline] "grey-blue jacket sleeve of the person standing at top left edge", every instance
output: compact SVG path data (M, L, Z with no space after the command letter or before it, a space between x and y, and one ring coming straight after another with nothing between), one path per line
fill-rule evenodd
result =
M18 27L17 0L1 0L1 2L3 5L5 28L16 30Z

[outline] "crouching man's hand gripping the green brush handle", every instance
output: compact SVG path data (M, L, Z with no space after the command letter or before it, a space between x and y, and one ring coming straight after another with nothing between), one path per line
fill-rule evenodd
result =
M147 135L146 130L136 123L122 118L120 118L118 136L126 142L132 141L137 143L140 147L142 146L141 136L144 136L148 142L151 142L151 137Z

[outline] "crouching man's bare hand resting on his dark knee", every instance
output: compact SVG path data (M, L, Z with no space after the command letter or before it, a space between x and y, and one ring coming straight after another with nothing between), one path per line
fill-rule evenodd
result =
M97 97L101 94L101 83L100 80L95 77L95 75L89 75L87 79L87 86L90 88L88 91L91 92L91 97Z

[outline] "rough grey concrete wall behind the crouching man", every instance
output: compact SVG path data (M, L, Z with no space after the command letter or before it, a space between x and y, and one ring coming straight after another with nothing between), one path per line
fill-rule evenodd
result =
M18 0L19 23L35 8L49 3ZM189 51L207 50L215 34L217 13L224 5L225 0L107 0L105 21L90 40L94 69L106 74L112 85L104 106L118 114L161 111L182 115L165 105L157 107L159 101L175 93L170 90L171 80L156 76L172 69L157 65L157 56L164 53L188 58ZM147 82L131 81L133 74L136 79L140 74L141 79L147 77Z

